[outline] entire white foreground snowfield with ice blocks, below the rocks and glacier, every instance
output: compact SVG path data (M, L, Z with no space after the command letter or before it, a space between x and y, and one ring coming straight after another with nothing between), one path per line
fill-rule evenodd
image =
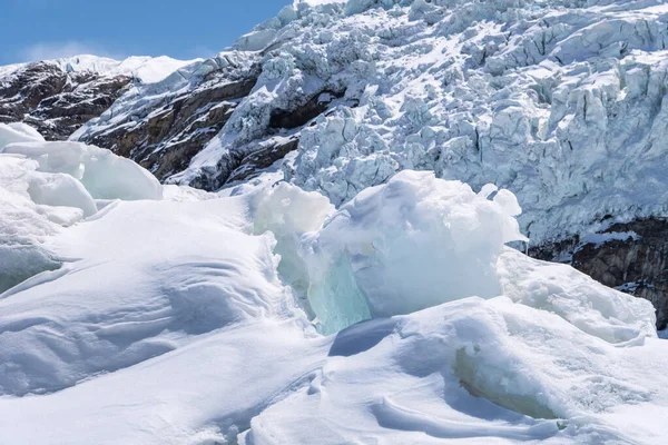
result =
M405 170L336 209L279 166L208 194L0 141L2 444L665 438L651 304L507 247L505 189Z

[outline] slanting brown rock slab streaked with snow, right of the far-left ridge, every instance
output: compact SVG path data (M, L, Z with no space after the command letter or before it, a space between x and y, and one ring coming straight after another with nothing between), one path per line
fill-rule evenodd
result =
M165 180L220 132L257 76L253 57L196 63L161 83L138 86L73 138L131 158Z

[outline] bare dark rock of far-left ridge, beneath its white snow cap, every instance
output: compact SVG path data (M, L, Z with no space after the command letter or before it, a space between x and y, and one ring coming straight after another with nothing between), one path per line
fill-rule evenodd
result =
M49 62L29 63L0 78L0 122L22 121L47 140L65 140L105 112L131 77L67 72Z

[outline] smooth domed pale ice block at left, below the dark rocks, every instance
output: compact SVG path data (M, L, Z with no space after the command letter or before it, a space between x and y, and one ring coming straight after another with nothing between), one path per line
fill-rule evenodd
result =
M84 184L96 199L161 199L160 182L132 160L80 142L10 144L0 152L39 162L39 171L63 172Z

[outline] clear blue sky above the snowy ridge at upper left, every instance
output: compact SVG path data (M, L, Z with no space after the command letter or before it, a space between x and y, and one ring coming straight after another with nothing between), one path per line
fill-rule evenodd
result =
M292 0L0 0L0 65L95 53L207 57Z

